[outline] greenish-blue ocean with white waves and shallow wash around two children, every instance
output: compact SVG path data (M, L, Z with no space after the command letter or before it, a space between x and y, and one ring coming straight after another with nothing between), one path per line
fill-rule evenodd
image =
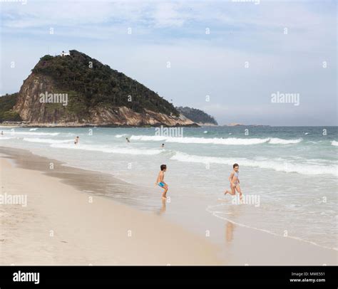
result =
M193 231L204 220L208 224L200 233L212 228L212 222L227 221L337 250L338 127L0 130L0 146L111 174L133 189L127 185L123 194L112 189L107 197L143 211L165 211ZM242 204L223 194L234 163L240 165ZM160 164L168 166L165 210L161 189L154 184Z

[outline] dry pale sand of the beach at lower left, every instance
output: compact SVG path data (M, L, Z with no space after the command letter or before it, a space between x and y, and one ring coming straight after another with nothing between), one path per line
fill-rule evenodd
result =
M158 216L85 194L1 157L1 265L220 264L215 246Z

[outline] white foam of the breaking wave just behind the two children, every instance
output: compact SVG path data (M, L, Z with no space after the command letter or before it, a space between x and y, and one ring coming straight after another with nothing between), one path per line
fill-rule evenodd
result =
M205 157L197 156L193 154L185 154L184 152L176 152L170 159L177 160L179 162L198 162L203 164L229 164L232 165L235 162L240 163L246 167L260 167L261 169L273 169L277 172L296 172L298 174L332 174L338 176L338 166L334 164L330 165L312 165L302 164L295 162L287 162L286 160L269 161L269 160L254 160L254 159L227 159L225 157Z

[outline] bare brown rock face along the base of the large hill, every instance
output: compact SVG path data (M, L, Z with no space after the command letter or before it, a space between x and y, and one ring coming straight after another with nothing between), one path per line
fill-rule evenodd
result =
M19 98L14 105L14 111L18 112L22 120L30 122L30 125L41 126L84 126L84 125L130 125L130 126L158 126L158 125L194 125L194 122L183 115L165 115L160 112L146 110L134 112L128 107L91 107L81 111L81 103L78 103L78 111L73 112L68 105L71 103L71 95L68 95L68 105L63 103L43 103L41 93L61 93L53 80L46 75L31 73L24 81L19 91ZM73 108L73 107L72 107Z

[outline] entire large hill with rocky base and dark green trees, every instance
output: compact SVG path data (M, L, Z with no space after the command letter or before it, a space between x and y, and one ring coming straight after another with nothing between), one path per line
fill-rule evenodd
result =
M86 57L86 61L81 57ZM104 70L96 71L101 76L96 76L95 71L86 74L87 68L82 68L81 65L88 59L93 60L77 51L62 58L41 58L31 75L24 80L14 112L18 112L22 120L34 126L195 125L156 93L123 73L107 68L107 65L102 66ZM78 64L79 61L82 61L81 65ZM77 65L77 70L69 72L63 65L69 65L71 69ZM96 64L98 68L100 65L102 64ZM81 71L85 76L81 75ZM118 73L117 76L114 73ZM109 85L113 85L113 89ZM135 91L138 94L133 98ZM127 97L133 99L131 104L125 100Z

